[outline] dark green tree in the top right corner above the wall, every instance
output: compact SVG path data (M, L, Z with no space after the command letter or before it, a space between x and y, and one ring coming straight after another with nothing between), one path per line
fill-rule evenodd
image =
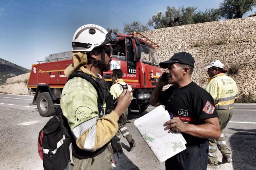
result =
M224 0L220 3L220 15L226 19L242 18L256 6L255 0Z

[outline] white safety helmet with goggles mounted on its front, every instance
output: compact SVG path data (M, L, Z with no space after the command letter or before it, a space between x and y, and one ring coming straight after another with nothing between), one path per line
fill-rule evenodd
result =
M112 30L87 24L77 29L72 41L72 51L92 51L96 47L114 45L119 40Z

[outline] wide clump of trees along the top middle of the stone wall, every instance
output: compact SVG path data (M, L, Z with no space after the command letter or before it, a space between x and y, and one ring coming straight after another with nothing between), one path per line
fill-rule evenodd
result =
M209 9L205 12L196 12L196 7L166 7L167 11L162 14L159 11L157 14L152 16L152 19L148 21L148 25L154 29L174 27L180 25L187 25L200 22L216 21L219 19L219 13L217 9Z

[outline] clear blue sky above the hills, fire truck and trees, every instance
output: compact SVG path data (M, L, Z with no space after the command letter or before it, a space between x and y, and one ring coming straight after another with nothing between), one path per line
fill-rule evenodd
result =
M1 0L0 58L31 69L53 53L70 51L73 34L82 25L118 27L139 21L146 24L166 6L195 6L205 11L222 0ZM252 12L255 12L255 8Z

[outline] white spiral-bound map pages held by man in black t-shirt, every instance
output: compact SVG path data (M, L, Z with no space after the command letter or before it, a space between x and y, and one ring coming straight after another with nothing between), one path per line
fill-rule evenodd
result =
M187 143L179 132L168 133L164 123L170 120L163 106L158 106L134 121L134 125L159 162L163 162L186 149Z

